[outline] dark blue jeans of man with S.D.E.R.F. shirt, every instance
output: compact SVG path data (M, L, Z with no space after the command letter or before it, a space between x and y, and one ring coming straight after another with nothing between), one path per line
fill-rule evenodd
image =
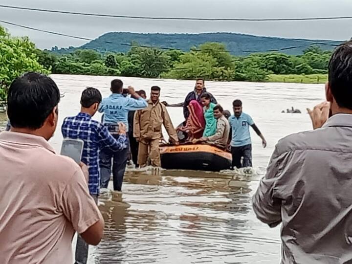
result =
M112 134L116 139L119 138L119 134ZM127 138L127 144L129 140ZM100 152L100 186L102 188L108 188L110 176L111 176L111 159L112 159L112 179L114 191L121 191L123 176L125 174L127 158L129 155L129 146L119 152L112 152L110 149L102 149Z

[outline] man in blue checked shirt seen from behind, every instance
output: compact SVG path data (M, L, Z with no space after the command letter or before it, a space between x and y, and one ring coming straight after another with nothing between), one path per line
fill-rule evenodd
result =
M119 137L115 139L108 129L91 117L97 112L102 101L101 93L96 88L86 88L81 96L81 111L76 116L66 117L61 127L64 138L80 139L84 142L82 162L87 164L89 171L89 192L95 201L100 189L99 152L109 149L113 153L121 153L127 148L126 126L119 123ZM86 264L88 244L77 238L76 263Z

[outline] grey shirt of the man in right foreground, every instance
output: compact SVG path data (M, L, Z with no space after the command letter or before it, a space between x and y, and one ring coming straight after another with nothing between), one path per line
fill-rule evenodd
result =
M253 209L282 223L282 264L352 263L352 115L281 139Z

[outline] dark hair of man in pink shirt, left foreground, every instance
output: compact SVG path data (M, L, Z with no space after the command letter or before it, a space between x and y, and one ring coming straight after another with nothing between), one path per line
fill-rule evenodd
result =
M7 115L14 128L40 129L60 102L55 82L44 74L28 72L16 78L7 94Z

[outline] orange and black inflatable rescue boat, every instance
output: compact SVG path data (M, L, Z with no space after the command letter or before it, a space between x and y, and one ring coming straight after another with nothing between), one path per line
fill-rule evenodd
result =
M215 146L187 144L160 146L161 167L169 170L219 172L230 169L232 156Z

